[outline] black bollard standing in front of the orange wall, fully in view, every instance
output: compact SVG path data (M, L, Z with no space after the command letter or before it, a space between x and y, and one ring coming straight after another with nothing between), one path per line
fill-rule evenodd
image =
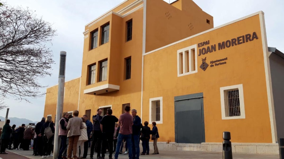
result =
M231 133L224 131L223 132L223 159L233 159L232 154L232 144L231 144Z

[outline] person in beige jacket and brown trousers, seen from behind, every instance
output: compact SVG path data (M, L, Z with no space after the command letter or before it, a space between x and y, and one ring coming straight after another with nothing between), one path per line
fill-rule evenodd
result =
M81 129L84 128L84 124L82 122L82 119L78 117L79 111L74 110L73 111L73 118L69 119L68 125L67 125L67 130L68 134L67 137L69 139L68 143L68 152L67 156L68 159L71 159L72 156L72 149L73 149L73 159L76 159L77 156L77 143L78 139L81 136Z

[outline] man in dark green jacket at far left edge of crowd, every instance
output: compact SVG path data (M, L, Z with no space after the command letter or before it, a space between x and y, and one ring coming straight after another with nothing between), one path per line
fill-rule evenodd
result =
M10 120L7 119L6 124L3 126L3 131L1 134L0 154L7 154L7 152L5 152L5 149L9 144L10 136L12 133L12 129L9 124L10 124Z

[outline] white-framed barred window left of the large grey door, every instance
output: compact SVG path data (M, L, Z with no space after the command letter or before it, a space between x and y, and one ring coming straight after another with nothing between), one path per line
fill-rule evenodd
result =
M157 124L163 123L163 97L150 98L149 103L149 121Z

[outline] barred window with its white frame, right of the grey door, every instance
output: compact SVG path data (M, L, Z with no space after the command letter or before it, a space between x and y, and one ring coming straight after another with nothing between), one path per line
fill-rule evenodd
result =
M222 119L245 119L243 85L220 88Z

